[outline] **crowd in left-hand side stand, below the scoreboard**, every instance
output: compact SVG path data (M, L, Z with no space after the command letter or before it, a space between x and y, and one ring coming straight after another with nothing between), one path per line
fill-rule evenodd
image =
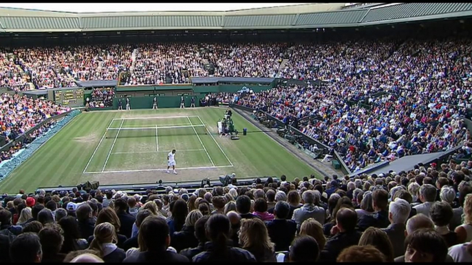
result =
M0 95L0 135L7 142L13 141L43 120L66 111L69 107L47 100L3 93Z

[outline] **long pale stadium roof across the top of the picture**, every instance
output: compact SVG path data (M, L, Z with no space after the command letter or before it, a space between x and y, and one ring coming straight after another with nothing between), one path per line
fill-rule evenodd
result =
M359 27L472 16L472 3L316 3L226 12L71 13L0 8L0 32L264 30Z

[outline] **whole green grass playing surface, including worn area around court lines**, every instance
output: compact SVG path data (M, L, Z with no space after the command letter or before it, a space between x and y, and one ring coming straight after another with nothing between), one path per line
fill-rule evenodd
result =
M0 183L1 193L38 187L200 181L235 172L237 177L289 179L317 172L233 112L239 140L217 135L224 108L81 113ZM248 128L248 135L242 129ZM177 175L167 174L175 149Z

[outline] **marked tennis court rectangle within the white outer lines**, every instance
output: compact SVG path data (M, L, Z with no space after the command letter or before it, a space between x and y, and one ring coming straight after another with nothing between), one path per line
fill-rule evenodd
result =
M196 115L114 118L83 173L165 171L173 149L178 171L233 167L215 137Z

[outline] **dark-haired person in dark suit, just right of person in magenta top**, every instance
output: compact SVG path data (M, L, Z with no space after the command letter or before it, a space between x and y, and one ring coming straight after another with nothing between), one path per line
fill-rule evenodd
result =
M274 208L275 219L266 222L270 241L275 243L275 251L288 251L288 247L297 233L297 223L287 220L290 205L279 201Z

